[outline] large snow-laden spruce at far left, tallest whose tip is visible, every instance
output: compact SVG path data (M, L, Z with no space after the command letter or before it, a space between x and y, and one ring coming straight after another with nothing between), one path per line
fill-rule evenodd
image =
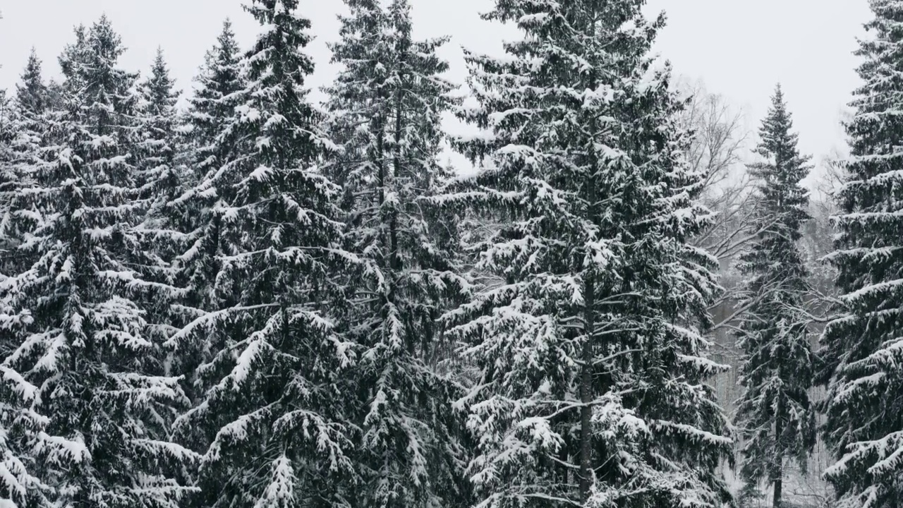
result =
M53 505L175 508L174 475L191 453L168 440L184 400L160 375L138 302L150 287L128 266L135 77L107 18L76 31L61 56L65 107L51 111L51 165L33 171L16 210L41 213L19 249L31 266L0 283L0 323L14 334L4 379L33 417L28 447ZM30 506L30 505L29 505Z

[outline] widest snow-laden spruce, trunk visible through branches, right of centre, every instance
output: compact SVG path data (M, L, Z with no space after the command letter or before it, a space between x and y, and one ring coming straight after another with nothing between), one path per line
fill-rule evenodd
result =
M445 199L502 224L479 249L496 280L447 315L482 368L460 403L479 438L479 506L711 506L728 423L700 330L714 261L682 158L682 106L647 56L641 0L505 0L524 38L468 53L479 105L457 142L487 164Z

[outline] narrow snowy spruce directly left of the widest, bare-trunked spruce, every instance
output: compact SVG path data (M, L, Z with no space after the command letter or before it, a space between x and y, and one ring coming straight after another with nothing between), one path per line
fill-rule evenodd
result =
M465 449L452 400L464 390L433 363L438 318L461 303L454 222L433 221L428 202L451 179L437 157L452 85L435 52L446 40L415 41L410 5L346 0L333 61L344 66L330 95L328 173L344 187L355 276L350 337L361 347L356 422L362 428L360 506L469 503ZM432 212L436 212L433 210Z

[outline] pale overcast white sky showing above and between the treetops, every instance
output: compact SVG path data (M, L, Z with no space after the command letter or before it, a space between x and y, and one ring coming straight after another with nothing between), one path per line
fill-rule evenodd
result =
M482 22L492 0L412 0L419 36L451 35L444 56L451 78L463 82L461 46L496 52L512 33ZM325 43L337 37L340 0L301 0L312 19L318 63L312 86L330 80ZM777 81L784 86L800 132L801 149L819 157L843 145L840 112L858 80L856 37L870 16L866 0L649 0L648 12L666 10L668 27L657 52L675 71L702 79L707 89L743 108L751 127L768 108ZM0 0L0 88L12 88L35 46L45 74L57 75L56 56L71 42L72 26L106 13L128 47L123 65L144 71L162 46L182 89L191 88L204 52L227 16L240 42L253 41L256 24L240 0Z

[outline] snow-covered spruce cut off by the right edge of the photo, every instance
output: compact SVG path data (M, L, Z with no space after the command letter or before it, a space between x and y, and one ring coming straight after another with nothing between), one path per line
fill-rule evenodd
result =
M903 2L870 6L830 256L845 312L825 328L822 354L824 438L837 459L825 476L843 508L903 506Z

